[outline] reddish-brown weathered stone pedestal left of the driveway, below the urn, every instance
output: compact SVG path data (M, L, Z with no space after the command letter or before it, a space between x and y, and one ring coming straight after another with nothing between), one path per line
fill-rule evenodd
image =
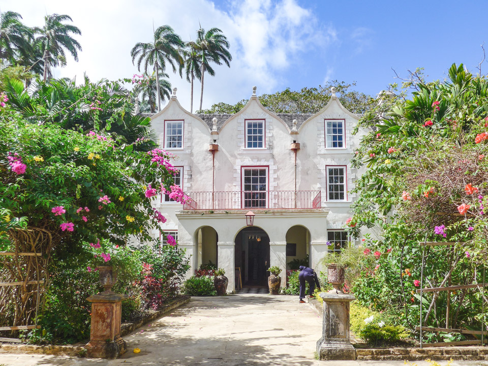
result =
M117 358L127 350L120 337L121 301L128 295L97 294L87 298L92 303L90 341L86 344L88 357Z

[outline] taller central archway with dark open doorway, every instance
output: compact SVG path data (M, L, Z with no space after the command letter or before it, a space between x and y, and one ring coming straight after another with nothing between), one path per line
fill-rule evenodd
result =
M257 226L240 230L235 237L234 261L236 289L241 284L242 287L266 287L269 268L268 234Z

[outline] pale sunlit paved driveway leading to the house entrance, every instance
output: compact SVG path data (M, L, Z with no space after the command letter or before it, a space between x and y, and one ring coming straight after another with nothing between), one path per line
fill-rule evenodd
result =
M128 352L102 360L0 353L0 365L403 365L404 362L317 361L321 319L297 296L197 297L125 337ZM133 353L134 348L141 352ZM424 362L416 362L419 366ZM445 365L446 362L441 362ZM488 362L453 363L487 365Z

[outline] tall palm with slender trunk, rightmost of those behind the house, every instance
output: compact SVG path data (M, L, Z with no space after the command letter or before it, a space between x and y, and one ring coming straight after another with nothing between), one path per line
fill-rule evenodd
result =
M227 37L224 36L224 34L219 28L211 28L208 32L205 32L205 29L202 29L200 27L200 29L198 29L197 35L198 37L196 43L201 53L201 65L200 65L201 74L202 74L201 77L202 88L200 92L200 110L201 110L202 103L203 103L203 77L205 76L205 71L209 71L207 65L210 62L214 62L217 65L222 65L222 62L224 62L228 67L230 67L232 55L228 51L230 44L227 41Z

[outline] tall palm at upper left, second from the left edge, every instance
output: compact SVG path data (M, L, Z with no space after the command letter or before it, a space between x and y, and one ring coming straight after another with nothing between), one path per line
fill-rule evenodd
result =
M62 23L66 20L73 21L66 14L46 15L44 17L45 25L35 29L35 32L40 34L36 42L40 44L43 53L44 82L50 72L50 66L66 65L65 49L71 53L75 61L78 61L78 50L81 51L81 45L70 34L81 35L81 31L77 26Z

